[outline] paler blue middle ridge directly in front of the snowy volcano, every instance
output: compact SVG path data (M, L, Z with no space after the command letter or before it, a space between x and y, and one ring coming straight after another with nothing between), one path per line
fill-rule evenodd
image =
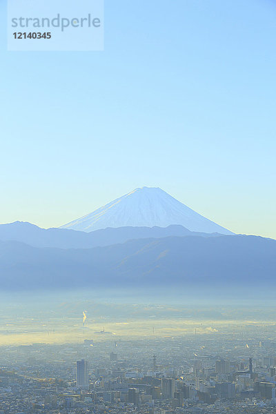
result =
M216 237L218 234L193 233L182 226L105 228L85 233L63 228L48 228L46 230L21 221L0 225L0 240L3 242L23 242L34 247L92 248L124 243L130 239L188 235Z

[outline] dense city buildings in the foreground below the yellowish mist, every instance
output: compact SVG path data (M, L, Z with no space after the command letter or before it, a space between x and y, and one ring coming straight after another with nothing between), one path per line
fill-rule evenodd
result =
M276 339L2 347L0 414L276 413Z

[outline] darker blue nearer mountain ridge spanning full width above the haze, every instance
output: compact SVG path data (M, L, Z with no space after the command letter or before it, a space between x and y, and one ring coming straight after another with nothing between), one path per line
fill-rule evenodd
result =
M276 285L276 241L255 236L136 239L91 249L34 248L0 242L3 290L193 288Z

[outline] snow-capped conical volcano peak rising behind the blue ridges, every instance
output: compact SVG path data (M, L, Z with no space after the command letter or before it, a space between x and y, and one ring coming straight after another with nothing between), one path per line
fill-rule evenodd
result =
M61 228L91 232L103 228L168 227L181 225L193 232L233 235L206 219L161 188L136 188L101 208Z

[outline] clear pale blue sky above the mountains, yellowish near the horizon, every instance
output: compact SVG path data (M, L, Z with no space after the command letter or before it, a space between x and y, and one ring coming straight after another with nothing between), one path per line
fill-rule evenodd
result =
M106 0L104 52L6 52L0 8L1 223L159 186L276 238L276 1Z

